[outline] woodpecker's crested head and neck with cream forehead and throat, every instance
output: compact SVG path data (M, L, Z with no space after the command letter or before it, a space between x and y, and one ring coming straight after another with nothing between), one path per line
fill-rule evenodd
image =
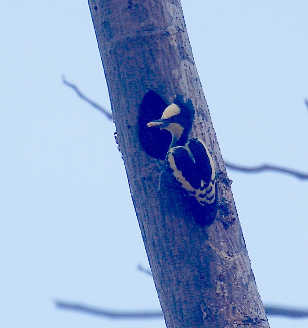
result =
M176 96L173 103L164 110L162 117L149 122L147 126L169 131L172 134L172 146L180 139L183 139L183 144L185 144L192 128L194 113L190 100L184 102L183 96Z

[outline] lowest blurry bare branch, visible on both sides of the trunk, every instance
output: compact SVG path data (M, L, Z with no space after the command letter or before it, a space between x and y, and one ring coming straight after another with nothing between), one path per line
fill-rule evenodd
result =
M90 306L56 301L55 305L64 310L80 311L87 314L112 318L112 319L156 319L163 318L161 311L144 311L144 312L117 312L104 309L93 308ZM280 316L288 318L307 318L308 310L291 309L278 306L264 306L265 313L268 316Z

